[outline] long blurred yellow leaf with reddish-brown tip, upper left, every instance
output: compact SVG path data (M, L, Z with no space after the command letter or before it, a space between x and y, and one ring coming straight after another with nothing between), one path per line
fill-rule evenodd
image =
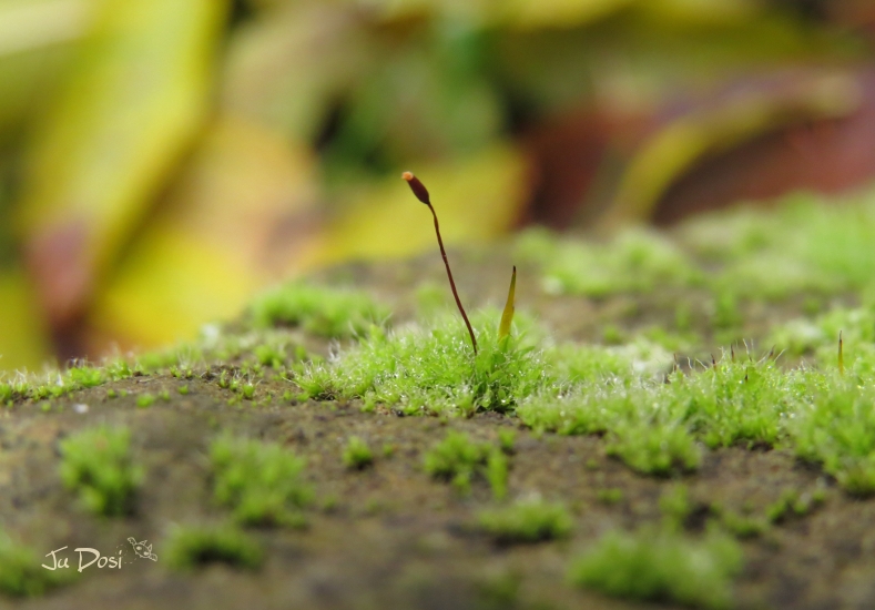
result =
M83 306L191 145L210 101L226 4L96 3L68 84L30 142L17 206L30 250L60 258L34 266L47 307L57 284L89 278L71 288L70 306ZM73 251L41 248L72 231L80 237ZM55 319L71 313L50 312Z

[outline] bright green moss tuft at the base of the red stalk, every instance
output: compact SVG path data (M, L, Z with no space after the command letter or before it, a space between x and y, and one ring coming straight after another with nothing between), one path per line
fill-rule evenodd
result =
M476 356L465 326L444 316L427 329L372 328L357 346L330 364L307 367L295 382L311 396L363 397L407 414L512 409L545 383L540 356L519 334L499 344L496 311L472 317Z

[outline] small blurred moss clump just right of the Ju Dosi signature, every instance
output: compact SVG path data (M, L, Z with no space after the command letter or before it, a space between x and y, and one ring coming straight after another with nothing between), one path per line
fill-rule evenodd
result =
M165 555L167 565L179 571L215 562L255 570L264 561L258 542L227 526L176 528L167 540Z

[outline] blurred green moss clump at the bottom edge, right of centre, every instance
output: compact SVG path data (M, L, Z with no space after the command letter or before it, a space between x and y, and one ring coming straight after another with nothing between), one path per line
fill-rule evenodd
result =
M739 546L715 531L695 540L670 528L641 529L609 532L572 562L569 577L611 597L719 610L731 607L741 566Z

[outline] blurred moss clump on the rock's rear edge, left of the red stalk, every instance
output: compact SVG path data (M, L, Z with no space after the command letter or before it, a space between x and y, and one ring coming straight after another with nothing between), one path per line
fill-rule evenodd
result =
M367 293L301 282L264 293L253 301L250 312L256 328L301 326L323 337L362 335L389 314Z

